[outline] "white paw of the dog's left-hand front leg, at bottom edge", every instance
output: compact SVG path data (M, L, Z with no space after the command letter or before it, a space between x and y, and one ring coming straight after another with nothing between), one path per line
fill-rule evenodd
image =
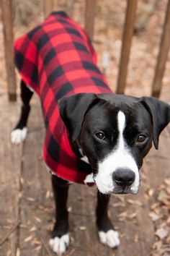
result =
M65 234L61 237L54 237L49 241L50 247L53 249L54 252L61 256L63 252L66 252L66 249L69 245L69 235Z

